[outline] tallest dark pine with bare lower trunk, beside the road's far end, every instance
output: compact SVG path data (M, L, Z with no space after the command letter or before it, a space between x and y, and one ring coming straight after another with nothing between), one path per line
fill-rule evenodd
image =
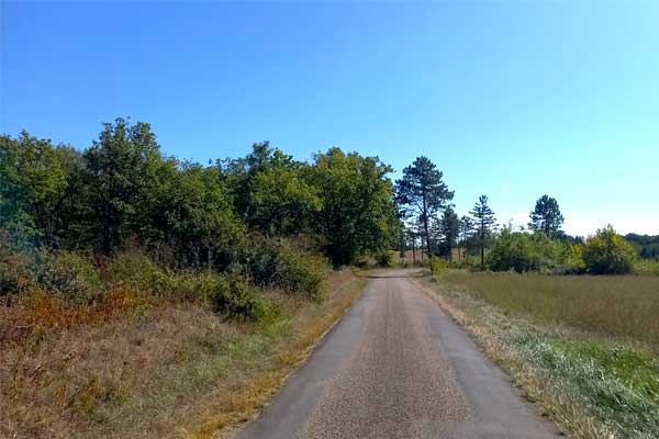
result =
M454 198L443 177L435 164L421 156L403 169L403 178L395 182L398 203L405 207L406 216L416 215L423 226L428 256L432 254L431 219Z

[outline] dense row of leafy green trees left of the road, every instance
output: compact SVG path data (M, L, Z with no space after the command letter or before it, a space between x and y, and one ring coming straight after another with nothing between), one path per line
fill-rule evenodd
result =
M125 119L83 149L2 135L0 271L20 271L25 251L75 252L102 269L138 250L175 270L242 267L256 283L304 255L349 264L398 240L391 171L339 148L300 161L268 142L202 165L165 155L147 123ZM36 260L23 266L41 282ZM0 286L24 283L14 278Z

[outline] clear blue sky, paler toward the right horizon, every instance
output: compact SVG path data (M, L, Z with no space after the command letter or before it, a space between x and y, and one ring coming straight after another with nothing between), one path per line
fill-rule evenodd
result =
M569 233L659 234L657 1L0 8L0 132L83 148L132 116L203 162L426 155L459 213L485 193L524 224L548 193Z

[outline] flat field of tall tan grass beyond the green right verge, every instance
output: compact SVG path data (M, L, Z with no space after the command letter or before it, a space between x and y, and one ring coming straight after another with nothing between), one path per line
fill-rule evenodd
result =
M444 280L506 314L659 346L659 277L541 275L450 271Z

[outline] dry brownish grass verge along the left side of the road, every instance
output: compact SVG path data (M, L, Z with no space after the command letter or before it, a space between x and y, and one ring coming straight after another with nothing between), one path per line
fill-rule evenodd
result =
M0 437L212 437L254 416L365 282L334 273L322 301L267 292L280 312L265 322L161 300L34 328L0 350Z

